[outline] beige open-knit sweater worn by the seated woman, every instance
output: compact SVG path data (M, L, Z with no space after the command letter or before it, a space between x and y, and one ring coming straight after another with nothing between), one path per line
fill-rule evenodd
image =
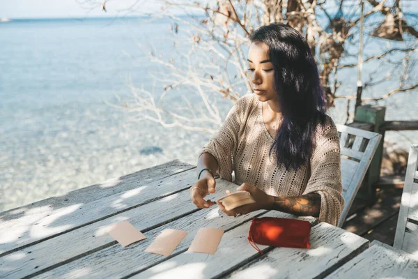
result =
M255 94L243 96L233 106L215 137L203 146L217 160L217 175L240 185L249 183L268 195L295 197L318 193L319 220L337 225L344 199L341 196L339 136L332 119L316 129L316 147L309 164L297 172L277 165L269 156L274 139L265 128L261 102Z

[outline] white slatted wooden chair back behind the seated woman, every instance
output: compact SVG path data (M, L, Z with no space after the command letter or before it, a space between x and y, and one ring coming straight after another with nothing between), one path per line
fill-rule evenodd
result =
M343 198L346 201L338 224L342 227L382 136L344 125L336 125L336 128L340 137Z

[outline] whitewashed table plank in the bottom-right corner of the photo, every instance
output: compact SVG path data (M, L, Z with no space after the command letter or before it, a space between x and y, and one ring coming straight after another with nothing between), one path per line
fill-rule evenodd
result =
M418 259L379 241L351 259L328 278L418 278Z

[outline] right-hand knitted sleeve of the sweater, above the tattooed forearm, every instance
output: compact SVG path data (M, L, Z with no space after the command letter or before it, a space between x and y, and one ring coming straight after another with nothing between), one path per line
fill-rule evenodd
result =
M303 195L318 193L321 197L319 220L338 225L344 208L340 144L334 121L328 116L325 126L318 126L316 130L310 164L311 177Z

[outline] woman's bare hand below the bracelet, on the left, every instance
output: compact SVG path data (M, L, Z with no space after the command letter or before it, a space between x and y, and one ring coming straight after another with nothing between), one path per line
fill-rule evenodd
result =
M210 199L203 199L203 197L206 197L209 193L215 193L215 186L216 181L212 174L203 176L203 178L199 179L199 181L194 183L194 186L190 188L190 196L192 197L192 202L196 204L199 209L208 208L215 204L215 202L210 201Z

